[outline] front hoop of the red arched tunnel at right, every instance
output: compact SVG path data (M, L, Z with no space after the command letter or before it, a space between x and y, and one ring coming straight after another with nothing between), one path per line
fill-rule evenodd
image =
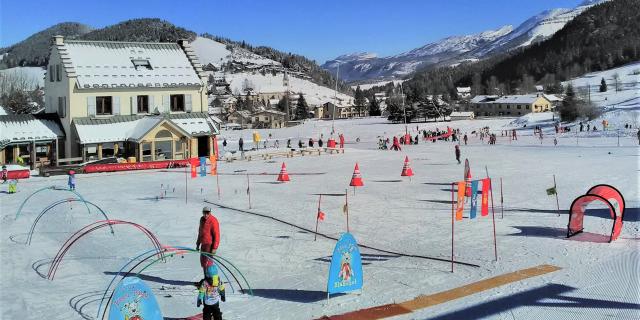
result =
M609 242L618 238L620 230L622 229L622 220L620 217L616 216L616 210L611 202L597 194L585 194L573 200L571 203L571 209L569 210L567 238L575 236L584 230L584 212L587 206L593 201L601 201L609 207L609 213L611 213L611 218L613 219L613 227L611 228Z

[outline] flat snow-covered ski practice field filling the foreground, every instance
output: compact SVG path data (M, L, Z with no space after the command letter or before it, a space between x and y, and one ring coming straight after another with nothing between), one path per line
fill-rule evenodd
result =
M493 261L492 224L487 218L456 223L456 260L480 267L448 263L362 249L365 260L364 288L326 301L329 259L335 241L234 210L275 217L307 229L315 227L318 193L344 193L355 163L359 163L365 186L355 195L349 189L350 228L359 243L402 254L448 259L451 253L450 183L462 178L453 143L420 142L402 152L377 150L378 136L404 133L403 124L380 118L335 121L346 136L346 152L274 158L271 161L219 163L221 198L212 176L189 179L185 203L185 174L181 169L89 174L77 176L77 191L99 205L109 218L136 222L152 230L163 244L195 246L201 208L210 205L221 225L218 254L232 261L247 277L254 296L234 293L227 285L227 302L221 305L225 319L313 319L361 308L402 302L492 276L551 264L559 271L506 284L495 289L417 310L394 319L638 319L640 318L640 227L638 188L638 140L635 131L620 138L604 135L558 136L554 146L552 128L540 142L531 130L521 130L518 141L500 136L514 119L468 120L417 124L420 129L447 125L469 135L462 145L473 177L487 173L494 179L498 261ZM527 126L531 128L532 118ZM312 136L326 138L331 121L311 121L282 130L262 130L285 140L306 142ZM489 126L498 134L496 145L487 145L471 131ZM505 126L505 127L503 127ZM416 134L416 124L409 130ZM637 129L635 129L637 130ZM223 132L235 148L249 131ZM356 138L360 142L356 143ZM220 139L222 141L222 139ZM416 175L400 177L408 155ZM277 173L286 161L291 182L274 184L274 175L251 175L252 209L248 209L244 173ZM239 173L240 175L231 175ZM296 173L322 173L296 175ZM545 193L555 175L559 204L571 202L600 183L618 188L626 199L627 212L621 238L601 242L611 232L611 220L600 210L589 210L585 233L566 239L568 216L556 213L554 197ZM504 190L504 218L500 207L499 181ZM151 248L134 228L116 226L115 235L98 230L78 241L62 261L53 281L44 279L52 258L64 241L81 227L100 219L79 203L64 203L40 220L33 242L26 234L36 216L50 203L70 194L49 191L34 196L21 217L21 202L39 188L65 185L65 177L34 177L21 181L18 193L0 194L0 306L2 319L78 319L95 317L102 291L131 257ZM2 185L1 191L6 190ZM167 190L164 199L157 199ZM213 204L208 204L209 201ZM325 221L318 232L338 237L345 230L344 197L323 197ZM216 204L227 208L218 207ZM591 207L589 207L591 209ZM95 211L95 210L94 210ZM465 213L467 215L468 213ZM140 277L154 290L165 317L171 319L200 313L190 284L201 276L198 258L170 258L145 270Z

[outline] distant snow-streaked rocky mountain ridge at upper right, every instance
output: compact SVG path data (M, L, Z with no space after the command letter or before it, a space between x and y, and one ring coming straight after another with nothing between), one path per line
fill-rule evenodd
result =
M530 45L552 36L589 7L607 0L587 0L573 9L543 11L515 29L508 25L473 35L447 37L420 48L388 57L373 53L342 55L325 62L332 73L340 65L345 81L397 79L434 64L457 64Z

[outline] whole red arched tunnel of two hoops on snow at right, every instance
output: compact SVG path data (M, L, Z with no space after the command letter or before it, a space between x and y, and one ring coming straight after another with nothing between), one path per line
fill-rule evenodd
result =
M609 207L611 219L613 219L613 227L611 228L611 237L609 238L609 242L616 240L622 231L625 202L620 191L607 184L596 185L589 189L585 195L579 196L573 200L573 203L571 203L571 209L569 210L567 238L584 230L584 212L587 206L593 201L601 201Z

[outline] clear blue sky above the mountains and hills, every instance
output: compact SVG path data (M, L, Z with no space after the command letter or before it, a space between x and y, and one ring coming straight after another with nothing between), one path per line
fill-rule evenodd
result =
M511 24L582 0L0 0L0 47L59 22L100 28L158 17L197 33L245 40L323 63L352 52L379 56L452 35Z

